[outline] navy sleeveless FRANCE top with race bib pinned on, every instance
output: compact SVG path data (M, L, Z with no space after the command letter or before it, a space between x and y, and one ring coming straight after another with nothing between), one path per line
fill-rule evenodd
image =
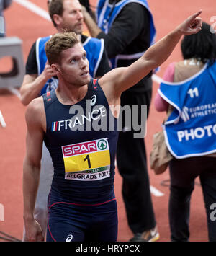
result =
M42 97L47 124L44 141L54 167L51 190L75 203L113 199L117 119L96 79L75 105L60 103L55 90Z

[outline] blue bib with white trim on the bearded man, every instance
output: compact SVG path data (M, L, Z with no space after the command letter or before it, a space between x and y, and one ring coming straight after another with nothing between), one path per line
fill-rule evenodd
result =
M37 70L38 75L42 73L45 69L45 63L47 62L48 58L45 53L45 43L50 40L50 36L38 38L36 42L36 59L37 59ZM89 61L89 74L91 77L95 77L96 71L99 67L99 63L102 59L103 52L104 52L104 40L99 40L96 38L88 37L86 41L83 43L84 49L87 53L87 59ZM56 89L58 86L58 79L52 77L49 79L45 86L42 88L40 95L44 94L45 92L49 92L52 89Z

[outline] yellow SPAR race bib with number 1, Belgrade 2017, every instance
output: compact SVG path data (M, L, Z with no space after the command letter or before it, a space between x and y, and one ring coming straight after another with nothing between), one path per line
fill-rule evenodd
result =
M93 181L110 176L107 138L62 146L65 179Z

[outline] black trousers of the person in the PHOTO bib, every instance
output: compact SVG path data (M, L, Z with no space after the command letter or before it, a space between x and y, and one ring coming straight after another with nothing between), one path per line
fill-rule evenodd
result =
M189 241L190 200L199 177L207 213L209 240L216 242L216 158L173 159L170 163L169 223L171 241ZM199 214L199 213L197 213Z

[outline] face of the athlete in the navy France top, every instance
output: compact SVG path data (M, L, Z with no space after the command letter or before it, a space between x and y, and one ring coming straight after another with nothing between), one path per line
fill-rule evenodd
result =
M59 70L63 81L68 85L81 87L89 84L89 61L81 43L77 43L73 48L63 50Z

